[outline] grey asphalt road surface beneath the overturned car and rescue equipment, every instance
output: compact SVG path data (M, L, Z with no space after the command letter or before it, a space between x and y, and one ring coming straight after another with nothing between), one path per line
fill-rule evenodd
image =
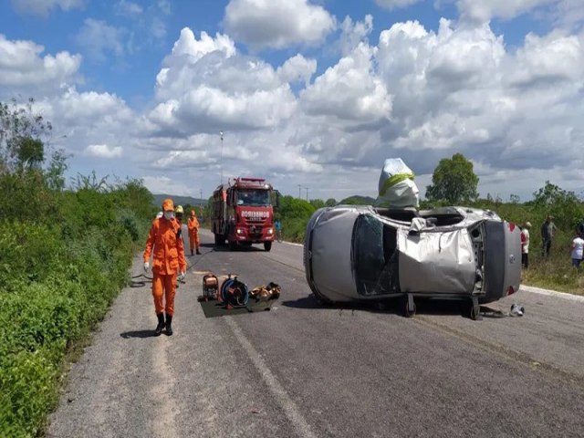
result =
M321 307L302 247L187 257L174 335L127 287L70 371L56 437L584 436L584 301L522 288L473 321L456 302ZM132 273L141 274L141 257ZM205 318L202 276L282 287L271 311ZM506 316L514 302L522 318ZM496 318L495 318L496 317Z

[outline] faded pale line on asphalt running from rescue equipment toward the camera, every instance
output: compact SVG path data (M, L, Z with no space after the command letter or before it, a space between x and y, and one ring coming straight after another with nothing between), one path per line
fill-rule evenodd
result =
M237 341L245 349L247 357L254 363L255 369L260 373L262 379L266 382L267 388L270 390L270 392L272 392L272 395L279 402L280 406L282 406L282 409L284 410L284 413L286 413L288 420L296 428L298 436L316 438L317 435L311 431L310 425L298 410L296 403L292 401L272 371L267 368L266 362L255 350L254 346L242 334L241 328L239 328L235 322L235 319L231 317L224 317L224 320L227 321L227 325L233 330L235 339L237 339Z

